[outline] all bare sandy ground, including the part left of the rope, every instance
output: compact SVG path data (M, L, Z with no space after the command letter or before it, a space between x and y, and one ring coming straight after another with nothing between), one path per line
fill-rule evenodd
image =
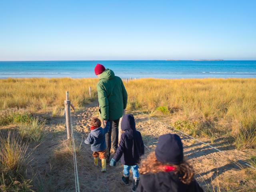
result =
M130 184L125 186L121 182L123 166L118 162L116 167L107 165L107 172L101 173L101 164L99 167L93 165L92 151L90 145L84 144L84 139L90 132L90 119L92 116L98 116L98 107L96 103L88 105L84 110L72 112L72 122L74 126L75 139L82 141L82 152L78 157L78 176L80 182L81 192L130 192L132 189L132 178ZM134 114L136 119L136 128L142 134L144 144L150 149L154 150L158 137L166 133L174 133L151 119L141 114ZM48 183L43 191L75 191L74 169L73 165L64 166L62 164L54 164L51 168L50 159L52 150L58 146L60 140L66 139L64 118L51 118L50 124L55 122L55 127L58 127L54 133L46 136L44 143L38 147L34 153L34 161L32 168L39 172L40 179ZM220 183L221 188L228 190L228 186L233 188L243 189L242 184L255 186L255 181L246 180L245 174L236 164L237 160L248 160L249 155L240 152L230 147L225 138L218 138L214 140L212 146L224 150L225 153L217 152L204 144L200 144L191 140L187 136L182 136L184 144L184 154L196 171L196 179L205 190L207 185L213 180L214 186ZM204 142L210 141L204 139ZM150 151L145 149L146 154ZM42 156L42 154L44 154ZM229 160L228 160L229 159ZM233 161L230 161L233 160ZM216 177L216 173L218 177ZM211 184L210 184L211 185Z

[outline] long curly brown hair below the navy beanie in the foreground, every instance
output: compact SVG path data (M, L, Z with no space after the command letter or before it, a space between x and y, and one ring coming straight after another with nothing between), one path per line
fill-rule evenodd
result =
M165 172L164 166L175 167L174 174L181 174L180 180L184 184L190 184L194 179L194 170L188 162L183 161L179 165L163 164L156 159L155 152L151 152L146 159L142 160L139 171L140 174Z

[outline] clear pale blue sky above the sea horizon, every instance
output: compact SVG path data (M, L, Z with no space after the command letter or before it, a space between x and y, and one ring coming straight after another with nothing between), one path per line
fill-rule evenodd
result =
M0 1L0 60L256 60L254 0Z

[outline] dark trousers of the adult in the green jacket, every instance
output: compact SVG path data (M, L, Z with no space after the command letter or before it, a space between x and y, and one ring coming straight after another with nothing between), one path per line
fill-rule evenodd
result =
M117 120L111 120L110 122L110 128L109 132L106 133L106 156L107 158L110 157L110 149L111 149L111 137L112 139L112 148L117 149L118 147L118 124L119 124L119 119Z

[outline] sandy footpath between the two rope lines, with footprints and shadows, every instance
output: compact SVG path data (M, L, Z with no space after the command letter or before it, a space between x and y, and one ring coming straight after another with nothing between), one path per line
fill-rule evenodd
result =
M90 106L82 114L78 114L76 122L76 131L87 136L90 131L89 121L92 116L98 115L98 108L96 106ZM136 128L142 133L144 143L150 150L154 150L157 139L160 135L166 133L174 133L173 130L169 130L164 126L161 126L158 122L150 120L140 114L134 114L136 119ZM207 184L210 184L213 180L214 184L218 182L234 182L233 185L238 186L243 181L240 174L240 166L244 164L239 160L248 160L249 155L235 150L226 142L225 138L218 138L214 140L213 144L207 139L202 139L204 142L211 144L212 146L222 150L224 152L218 152L215 149L210 148L204 144L195 142L187 136L182 136L182 142L184 143L184 154L190 161L196 171L196 179L204 188L207 188ZM146 154L149 153L148 149ZM93 158L91 156L90 146L83 145L84 165L79 170L80 184L82 189L94 189L94 191L130 191L130 186L122 185L120 178L122 176L122 165L118 164L116 168L107 166L108 172L102 174L100 168L96 168L93 165ZM237 164L238 161L238 164ZM216 179L218 175L218 179ZM253 184L254 181L246 181L248 184ZM223 184L224 185L224 184Z

